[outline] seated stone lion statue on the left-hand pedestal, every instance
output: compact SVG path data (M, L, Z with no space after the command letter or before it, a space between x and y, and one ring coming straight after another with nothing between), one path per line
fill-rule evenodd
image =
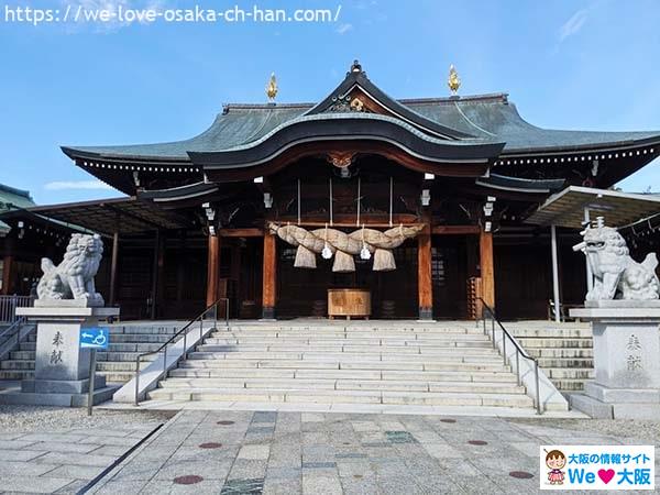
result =
M96 292L94 277L99 270L103 243L97 234L73 234L64 260L57 266L42 258L44 275L36 294L40 299L87 299L92 306L103 306L103 297Z

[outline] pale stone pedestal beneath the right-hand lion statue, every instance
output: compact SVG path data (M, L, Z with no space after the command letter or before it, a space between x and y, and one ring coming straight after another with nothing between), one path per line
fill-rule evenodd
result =
M660 301L593 301L570 314L592 322L595 369L572 406L595 418L660 419Z

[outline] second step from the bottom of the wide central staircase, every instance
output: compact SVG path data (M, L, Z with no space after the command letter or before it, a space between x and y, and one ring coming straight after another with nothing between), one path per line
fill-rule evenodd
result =
M169 378L163 388L280 388L324 391L465 392L524 394L525 387L492 382L400 382L387 380L331 378Z

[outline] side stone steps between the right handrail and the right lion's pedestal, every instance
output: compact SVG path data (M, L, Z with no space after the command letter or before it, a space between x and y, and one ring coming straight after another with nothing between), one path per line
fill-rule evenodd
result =
M594 377L593 341L588 323L519 321L506 323L520 345L538 358L539 366L564 394L582 392Z

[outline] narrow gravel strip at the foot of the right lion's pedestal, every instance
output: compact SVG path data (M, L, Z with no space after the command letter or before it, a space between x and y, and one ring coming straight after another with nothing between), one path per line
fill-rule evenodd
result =
M640 440L652 440L660 443L660 421L640 419L512 419L512 422L550 426L612 437L635 438Z

